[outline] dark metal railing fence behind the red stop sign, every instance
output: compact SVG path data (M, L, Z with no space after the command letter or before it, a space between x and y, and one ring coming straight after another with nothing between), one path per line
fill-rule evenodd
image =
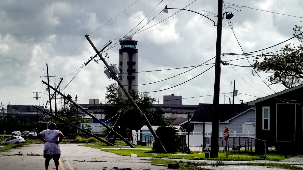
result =
M205 138L205 144L211 146L211 138ZM259 154L266 154L266 140L260 140L251 137L229 137L225 142L223 137L219 137L218 151L223 152L256 152Z

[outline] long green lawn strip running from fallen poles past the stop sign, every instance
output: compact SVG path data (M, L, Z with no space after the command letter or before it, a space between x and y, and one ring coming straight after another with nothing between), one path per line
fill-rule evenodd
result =
M154 154L151 153L151 147L147 146L136 146L137 148L150 148L150 150L140 150L140 149L127 149L127 150L119 150L119 149L103 149L103 148L116 148L116 147L108 147L108 146L102 146L102 145L81 145L81 146L87 146L91 148L96 149L102 149L102 151L115 153L117 155L123 155L123 156L131 156L132 153L137 154L138 157L150 157L150 158L167 158L167 159L195 159L195 160L217 160L217 161L223 161L223 160L236 160L236 161L254 161L254 160L271 160L271 161L281 161L285 159L285 155L282 154L275 154L275 153L269 153L267 154L267 158L265 159L264 156L255 155L255 153L237 153L237 152L230 152L228 153L228 158L226 158L226 153L219 152L218 158L205 158L205 153L193 153L193 154L183 154L183 155L177 155L177 154ZM149 153L148 153L149 152Z

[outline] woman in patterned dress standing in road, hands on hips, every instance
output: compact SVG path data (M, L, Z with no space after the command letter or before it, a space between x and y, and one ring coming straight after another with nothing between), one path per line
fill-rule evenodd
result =
M51 159L54 160L56 170L58 170L61 150L59 143L63 139L63 134L56 130L55 123L49 124L49 129L43 130L38 136L44 142L43 157L45 158L45 170L48 169L48 164ZM59 139L58 139L59 138Z

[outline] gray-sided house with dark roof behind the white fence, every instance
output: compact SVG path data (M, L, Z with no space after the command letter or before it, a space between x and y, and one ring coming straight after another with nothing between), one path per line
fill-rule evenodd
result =
M247 104L220 104L219 105L219 136L228 127L230 136L254 136L255 109ZM212 104L200 103L191 123L194 123L194 134L203 135L205 123L205 136L211 135ZM248 134L249 133L249 134Z

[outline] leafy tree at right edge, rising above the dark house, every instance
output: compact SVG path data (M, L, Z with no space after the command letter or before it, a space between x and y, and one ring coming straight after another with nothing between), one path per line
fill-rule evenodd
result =
M295 25L293 35L300 34L303 29L302 26ZM297 36L300 43L298 47L294 44L286 44L281 51L273 53L273 55L260 54L255 58L254 64L255 70L252 70L252 74L255 75L261 71L270 73L271 75L267 78L272 84L283 84L286 89L298 86L303 83L303 35ZM298 52L291 54L300 49ZM289 57L285 57L291 54ZM285 58L284 58L285 57ZM274 62L275 61L275 62ZM262 65L264 64L264 65Z

